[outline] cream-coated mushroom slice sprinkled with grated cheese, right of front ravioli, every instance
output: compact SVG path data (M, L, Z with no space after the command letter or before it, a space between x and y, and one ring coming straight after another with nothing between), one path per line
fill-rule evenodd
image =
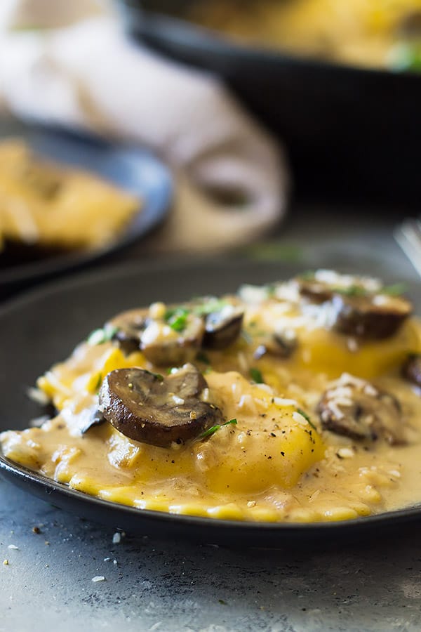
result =
M338 435L405 442L399 401L365 380L344 374L323 394L317 411L322 427Z

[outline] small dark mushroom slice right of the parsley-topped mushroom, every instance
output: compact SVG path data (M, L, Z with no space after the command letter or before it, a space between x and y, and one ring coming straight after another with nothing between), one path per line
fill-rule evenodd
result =
M205 320L205 335L202 346L208 349L225 349L239 337L243 324L244 310L234 305L225 305L218 312L210 312Z

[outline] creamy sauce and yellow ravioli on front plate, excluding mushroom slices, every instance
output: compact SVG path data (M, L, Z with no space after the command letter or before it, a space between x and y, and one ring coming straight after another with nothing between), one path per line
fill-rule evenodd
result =
M82 343L39 378L58 416L41 428L3 433L4 454L102 499L211 518L346 520L420 503L421 398L399 374L408 353L420 348L417 320L387 340L350 343L326 328L326 315L303 315L293 301L259 298L245 305L246 336L226 350L206 351L209 364L197 362L208 401L236 424L170 448L133 441L109 423L81 435L109 371L163 372L140 351L124 355L109 341ZM297 348L286 359L256 360L262 331L274 323L293 331ZM258 369L264 383L250 379L250 369ZM321 428L321 393L345 371L398 398L406 445L352 440Z

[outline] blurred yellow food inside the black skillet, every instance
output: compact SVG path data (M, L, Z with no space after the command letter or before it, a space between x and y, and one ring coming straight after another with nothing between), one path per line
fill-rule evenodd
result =
M187 15L240 41L298 55L421 70L420 0L200 0Z

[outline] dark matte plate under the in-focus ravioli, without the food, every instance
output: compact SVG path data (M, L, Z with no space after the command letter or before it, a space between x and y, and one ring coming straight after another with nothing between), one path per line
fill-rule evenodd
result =
M33 291L0 311L0 430L26 428L40 414L26 391L53 362L118 310L150 301L185 300L198 294L235 290L242 282L287 278L296 268L244 261L178 263L125 267L84 275ZM389 280L389 279L387 279ZM390 279L392 280L392 279ZM331 539L360 539L404 523L420 522L421 506L346 522L268 524L231 522L145 511L95 499L12 463L0 454L1 475L49 503L83 518L121 527L133 534L213 544L283 546Z

